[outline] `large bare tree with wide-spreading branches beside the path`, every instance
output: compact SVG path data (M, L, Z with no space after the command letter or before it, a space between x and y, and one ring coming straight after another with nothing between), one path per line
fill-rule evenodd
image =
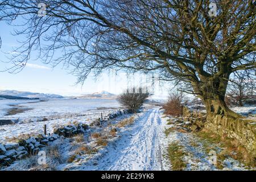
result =
M182 81L208 114L240 117L224 98L230 74L256 68L255 4L216 0L212 14L210 2L4 0L0 20L16 22L15 34L27 36L9 71L22 69L33 49L44 63L73 65L80 82L104 69L154 71L163 80Z

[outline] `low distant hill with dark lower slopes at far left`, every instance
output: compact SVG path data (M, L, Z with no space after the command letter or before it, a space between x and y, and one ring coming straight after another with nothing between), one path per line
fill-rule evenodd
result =
M6 99L46 99L46 98L64 98L57 94L20 92L16 90L0 90L0 97Z

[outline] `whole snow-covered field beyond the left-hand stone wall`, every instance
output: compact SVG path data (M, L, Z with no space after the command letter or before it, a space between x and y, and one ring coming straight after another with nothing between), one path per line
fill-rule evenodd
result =
M44 117L60 118L49 119L49 121L22 122L15 125L0 126L0 143L6 142L6 139L18 137L20 134L42 133L44 124L47 125L48 132L52 133L53 128L58 125L65 125L73 121L89 123L93 119L101 117L101 113L105 116L111 111L119 109L119 104L116 100L104 99L57 99L45 102L34 101L33 103L31 103L31 100L0 100L0 103L2 104L2 113L14 107L13 105L31 108L31 110L15 115L2 114L0 119L19 118L36 121L37 118ZM82 114L82 116L75 116L75 114Z

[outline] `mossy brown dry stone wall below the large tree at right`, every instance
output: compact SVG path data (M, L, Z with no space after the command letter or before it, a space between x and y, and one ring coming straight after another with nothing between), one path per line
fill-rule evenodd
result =
M183 109L183 118L190 122L189 129L192 131L204 128L222 137L236 139L256 158L256 121L246 118L234 119L220 114L206 115L191 111L187 107Z

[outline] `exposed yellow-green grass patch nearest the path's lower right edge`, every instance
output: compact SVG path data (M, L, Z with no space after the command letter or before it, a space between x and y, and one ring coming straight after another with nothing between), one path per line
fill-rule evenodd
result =
M183 146L181 146L178 142L169 144L168 157L172 165L172 170L182 171L185 169L185 167L187 167L187 163L183 161L184 155L185 152L183 150Z

